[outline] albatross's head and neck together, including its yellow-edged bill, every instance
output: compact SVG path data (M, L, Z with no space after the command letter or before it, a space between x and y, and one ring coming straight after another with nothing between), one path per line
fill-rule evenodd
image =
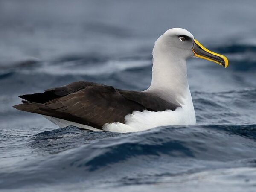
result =
M227 58L209 51L185 29L167 30L155 42L153 49L153 67L151 86L146 91L159 94L163 99L174 99L186 96L189 86L186 73L186 59L203 58L223 65L228 65ZM190 92L189 92L190 94Z

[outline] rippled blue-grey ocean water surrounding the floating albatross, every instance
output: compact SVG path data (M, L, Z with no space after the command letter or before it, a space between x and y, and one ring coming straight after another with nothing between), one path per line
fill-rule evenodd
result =
M256 190L256 1L0 1L0 190ZM151 82L154 41L182 27L227 56L192 58L197 125L138 133L58 128L18 95L73 81Z

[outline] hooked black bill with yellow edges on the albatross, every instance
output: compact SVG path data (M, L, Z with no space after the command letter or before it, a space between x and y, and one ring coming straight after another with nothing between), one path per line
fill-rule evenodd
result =
M208 49L206 49L201 43L199 43L196 39L194 39L194 45L192 48L195 57L203 58L208 61L215 62L219 65L224 66L227 68L228 66L228 60L224 55L212 52Z

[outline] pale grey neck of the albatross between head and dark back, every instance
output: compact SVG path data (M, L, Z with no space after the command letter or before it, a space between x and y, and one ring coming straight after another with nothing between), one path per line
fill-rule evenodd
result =
M155 93L166 101L183 104L190 95L186 60L172 51L153 49L152 81L145 92Z

